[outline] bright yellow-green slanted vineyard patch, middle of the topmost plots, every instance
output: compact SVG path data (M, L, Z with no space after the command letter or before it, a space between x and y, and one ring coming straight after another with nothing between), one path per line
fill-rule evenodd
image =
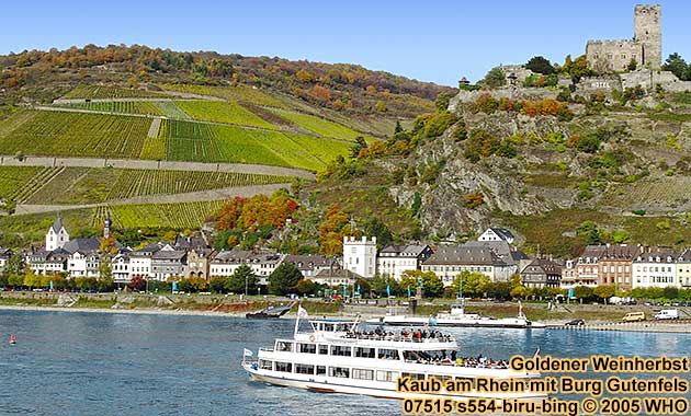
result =
M230 123L241 126L275 129L275 126L272 124L233 102L178 101L175 104L196 120Z

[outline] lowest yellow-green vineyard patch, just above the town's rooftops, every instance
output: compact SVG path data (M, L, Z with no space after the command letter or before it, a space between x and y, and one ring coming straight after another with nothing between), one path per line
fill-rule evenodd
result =
M217 211L223 201L181 204L113 205L95 210L92 224L103 223L106 212L118 228L200 228Z

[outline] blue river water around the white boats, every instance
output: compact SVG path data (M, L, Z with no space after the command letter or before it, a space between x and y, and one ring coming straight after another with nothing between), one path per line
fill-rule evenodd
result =
M0 311L0 414L398 415L400 402L251 382L242 348L293 320ZM463 355L689 355L690 334L454 328ZM10 346L10 334L18 344ZM635 375L635 374L627 374ZM607 375L602 375L607 377ZM682 374L682 377L684 377ZM581 397L582 398L582 397Z

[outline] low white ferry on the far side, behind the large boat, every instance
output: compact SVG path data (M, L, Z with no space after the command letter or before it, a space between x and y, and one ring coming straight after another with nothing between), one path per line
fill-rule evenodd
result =
M392 326L455 326L455 327L495 327L495 328L544 328L545 324L532 322L525 316L520 304L516 317L495 319L477 313L465 313L462 303L451 307L449 312L440 312L434 316L408 316L387 313L385 316L366 321L372 325Z

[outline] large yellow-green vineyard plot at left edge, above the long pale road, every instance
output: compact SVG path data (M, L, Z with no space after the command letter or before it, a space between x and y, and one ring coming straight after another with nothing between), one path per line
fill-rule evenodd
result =
M0 153L138 158L150 124L141 117L32 112L0 137Z

